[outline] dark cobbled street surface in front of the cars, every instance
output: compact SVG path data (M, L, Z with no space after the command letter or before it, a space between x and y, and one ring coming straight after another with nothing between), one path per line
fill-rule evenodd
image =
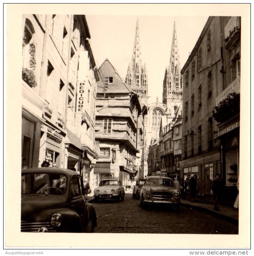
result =
M238 226L195 209L154 207L143 210L139 200L126 193L124 201L93 202L95 233L238 234Z

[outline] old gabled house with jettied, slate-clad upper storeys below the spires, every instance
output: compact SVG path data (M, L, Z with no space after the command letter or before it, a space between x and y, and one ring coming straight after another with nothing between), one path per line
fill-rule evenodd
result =
M139 172L145 108L108 59L100 66L99 75L95 139L100 142L100 154L94 168L95 185L105 177L117 177L125 185Z

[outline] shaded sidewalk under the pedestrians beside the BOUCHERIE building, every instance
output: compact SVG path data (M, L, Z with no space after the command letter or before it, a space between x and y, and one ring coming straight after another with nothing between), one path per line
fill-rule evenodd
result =
M207 214L211 214L215 217L224 219L226 221L230 221L234 224L238 224L238 221L239 221L239 211L233 206L231 207L231 206L220 205L220 211L215 211L214 204L211 204L211 203L203 203L203 202L191 203L189 200L181 199L181 204L186 207L200 210Z

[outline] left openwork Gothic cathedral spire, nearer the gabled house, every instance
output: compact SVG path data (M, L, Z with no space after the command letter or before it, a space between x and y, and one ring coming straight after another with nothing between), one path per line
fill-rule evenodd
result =
M138 19L136 24L136 35L132 51L132 58L128 66L125 82L133 92L139 94L139 99L141 102L144 103L148 100L147 73L145 64L143 67L141 62Z

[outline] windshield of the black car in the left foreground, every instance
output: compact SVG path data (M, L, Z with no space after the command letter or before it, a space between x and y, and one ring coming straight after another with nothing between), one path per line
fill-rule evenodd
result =
M21 194L63 195L66 177L61 174L22 174Z

